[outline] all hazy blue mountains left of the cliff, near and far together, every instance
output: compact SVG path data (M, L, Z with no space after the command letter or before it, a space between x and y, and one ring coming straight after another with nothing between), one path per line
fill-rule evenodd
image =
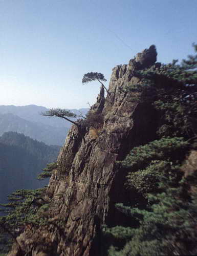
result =
M36 177L57 160L72 125L58 117L40 115L47 110L37 105L0 105L0 203L16 189L47 185L48 179L38 181ZM70 111L81 118L88 110Z

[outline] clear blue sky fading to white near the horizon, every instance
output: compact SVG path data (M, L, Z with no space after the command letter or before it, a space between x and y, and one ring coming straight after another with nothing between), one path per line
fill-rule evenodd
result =
M197 0L0 0L0 105L80 109L100 85L83 74L128 63L154 44L158 61L193 54Z

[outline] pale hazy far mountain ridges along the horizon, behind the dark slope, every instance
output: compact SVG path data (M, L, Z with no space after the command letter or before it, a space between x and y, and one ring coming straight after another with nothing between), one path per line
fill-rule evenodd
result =
M32 139L45 142L48 145L63 145L71 123L58 117L41 116L48 109L44 106L1 105L0 106L0 136L5 132L23 133ZM85 116L89 109L70 110ZM73 118L76 120L76 118Z

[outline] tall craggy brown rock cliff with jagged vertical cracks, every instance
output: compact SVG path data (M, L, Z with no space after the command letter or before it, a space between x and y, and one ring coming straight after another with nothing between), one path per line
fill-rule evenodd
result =
M102 127L94 139L94 127L83 130L84 142L77 127L72 126L58 156L58 169L54 170L47 189L51 225L37 230L26 228L17 238L20 253L102 255L101 225L110 225L111 221L119 223L114 204L126 200L122 188L124 172L116 161L122 160L132 147L156 136L154 110L148 104L133 101L135 95L124 89L140 82L134 71L154 64L156 56L155 46L151 46L128 65L113 69L110 96L104 98L101 88L91 108L93 114L103 116ZM62 223L61 227L53 224L57 220ZM14 246L9 255L17 255Z

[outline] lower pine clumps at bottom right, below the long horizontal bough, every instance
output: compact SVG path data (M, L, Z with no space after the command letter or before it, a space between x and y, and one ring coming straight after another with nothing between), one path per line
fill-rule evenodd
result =
M129 173L128 193L130 189L136 189L147 199L147 205L143 209L140 202L138 208L132 202L130 206L116 205L125 215L136 218L139 227L133 228L132 223L128 223L128 227L105 228L107 236L111 234L122 241L119 248L111 246L109 255L196 253L197 196L189 193L188 188L197 187L197 179L195 173L187 179L181 178L179 166L155 160L146 169Z

